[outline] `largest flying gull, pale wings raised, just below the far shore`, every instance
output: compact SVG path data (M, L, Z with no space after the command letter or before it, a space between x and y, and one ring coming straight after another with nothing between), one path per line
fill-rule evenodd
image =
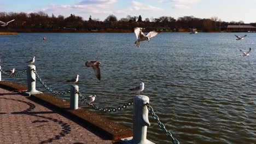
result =
M137 47L139 47L139 43L141 41L149 41L151 38L155 37L155 35L158 35L161 31L151 31L147 35L144 35L142 32L143 28L135 27L134 33L136 34L137 40L135 41L135 44Z

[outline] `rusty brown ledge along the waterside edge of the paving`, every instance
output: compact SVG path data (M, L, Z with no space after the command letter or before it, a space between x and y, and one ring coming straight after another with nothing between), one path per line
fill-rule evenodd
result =
M0 87L19 93L27 90L26 86L9 81L0 81ZM132 136L132 130L130 128L126 128L123 125L110 121L106 117L100 116L97 113L89 111L85 108L79 107L78 110L70 110L69 101L62 100L54 95L47 93L32 94L30 97L28 97L28 99L38 101L39 104L42 105L48 104L54 109L62 111L63 113L69 115L73 121L83 123L92 130L105 136L106 139L120 140L122 138Z

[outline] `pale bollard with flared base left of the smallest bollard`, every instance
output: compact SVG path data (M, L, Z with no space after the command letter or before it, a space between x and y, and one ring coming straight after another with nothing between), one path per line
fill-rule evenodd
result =
M36 66L27 65L27 91L24 91L24 93L28 95L42 93L36 90L36 74L33 69L36 70Z

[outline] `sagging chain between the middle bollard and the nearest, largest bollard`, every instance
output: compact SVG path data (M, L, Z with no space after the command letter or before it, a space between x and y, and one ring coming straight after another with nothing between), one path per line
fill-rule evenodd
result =
M90 103L86 102L86 98L80 92L78 92L78 96L80 97L81 101L84 101L84 103L86 103L88 106L91 106L95 110L104 111L104 112L117 112L117 111L121 111L123 109L126 109L127 106L130 106L130 105L133 104L133 100L131 100L131 101L123 104L122 106L118 106L117 108L107 109L107 108L99 107L99 106L97 106L95 104L90 104Z

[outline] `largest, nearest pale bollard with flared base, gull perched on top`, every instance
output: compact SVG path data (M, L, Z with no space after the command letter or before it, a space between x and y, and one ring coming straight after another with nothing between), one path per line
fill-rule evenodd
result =
M147 128L150 126L148 121L149 98L146 95L136 95L133 98L133 137L121 139L125 144L153 144L147 140Z

